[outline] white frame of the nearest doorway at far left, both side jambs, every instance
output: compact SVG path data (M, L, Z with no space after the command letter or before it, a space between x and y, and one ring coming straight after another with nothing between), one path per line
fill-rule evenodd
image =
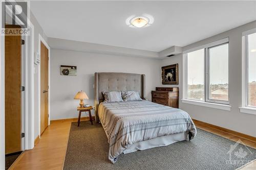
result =
M2 3L0 3L2 9ZM0 12L2 18L2 12ZM2 28L2 22L0 22ZM28 19L30 36L25 36L25 145L34 148L34 25ZM30 37L30 38L29 38ZM5 36L0 38L0 169L5 169Z

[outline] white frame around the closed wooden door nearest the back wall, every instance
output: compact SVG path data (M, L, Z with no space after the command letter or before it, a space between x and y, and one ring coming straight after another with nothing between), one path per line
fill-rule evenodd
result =
M46 40L38 34L38 53L41 55L41 42L47 47L48 49L48 126L50 125L50 118L51 118L51 105L50 105L50 94L51 94L51 86L50 86L50 59L51 59L51 48L47 44ZM41 56L40 56L41 58ZM40 59L41 60L41 59ZM39 133L39 138L41 138L41 61L38 64L38 133Z

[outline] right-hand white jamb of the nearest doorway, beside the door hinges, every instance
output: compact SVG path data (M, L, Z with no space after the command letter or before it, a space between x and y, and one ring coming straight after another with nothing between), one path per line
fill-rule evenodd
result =
M22 46L22 82L25 91L21 93L21 133L25 137L21 139L22 151L34 148L34 25L28 19L29 36L22 36L25 40Z

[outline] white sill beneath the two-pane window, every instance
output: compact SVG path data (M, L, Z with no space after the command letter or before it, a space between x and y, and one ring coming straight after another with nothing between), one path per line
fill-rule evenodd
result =
M202 101L194 101L194 100L188 100L188 99L182 99L181 101L182 101L182 103L191 104L191 105L198 105L198 106L204 106L204 107L210 107L210 108L228 110L228 111L231 110L230 105L209 103L209 102L202 102Z

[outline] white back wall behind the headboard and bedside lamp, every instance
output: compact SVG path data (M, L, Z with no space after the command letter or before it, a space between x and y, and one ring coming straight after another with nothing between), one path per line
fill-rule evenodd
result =
M60 76L60 65L76 65L77 76ZM94 72L130 72L146 75L146 98L161 81L159 60L107 54L57 50L51 48L51 119L78 117L74 100L79 90L89 96L86 104L94 106ZM83 113L83 116L85 114Z

